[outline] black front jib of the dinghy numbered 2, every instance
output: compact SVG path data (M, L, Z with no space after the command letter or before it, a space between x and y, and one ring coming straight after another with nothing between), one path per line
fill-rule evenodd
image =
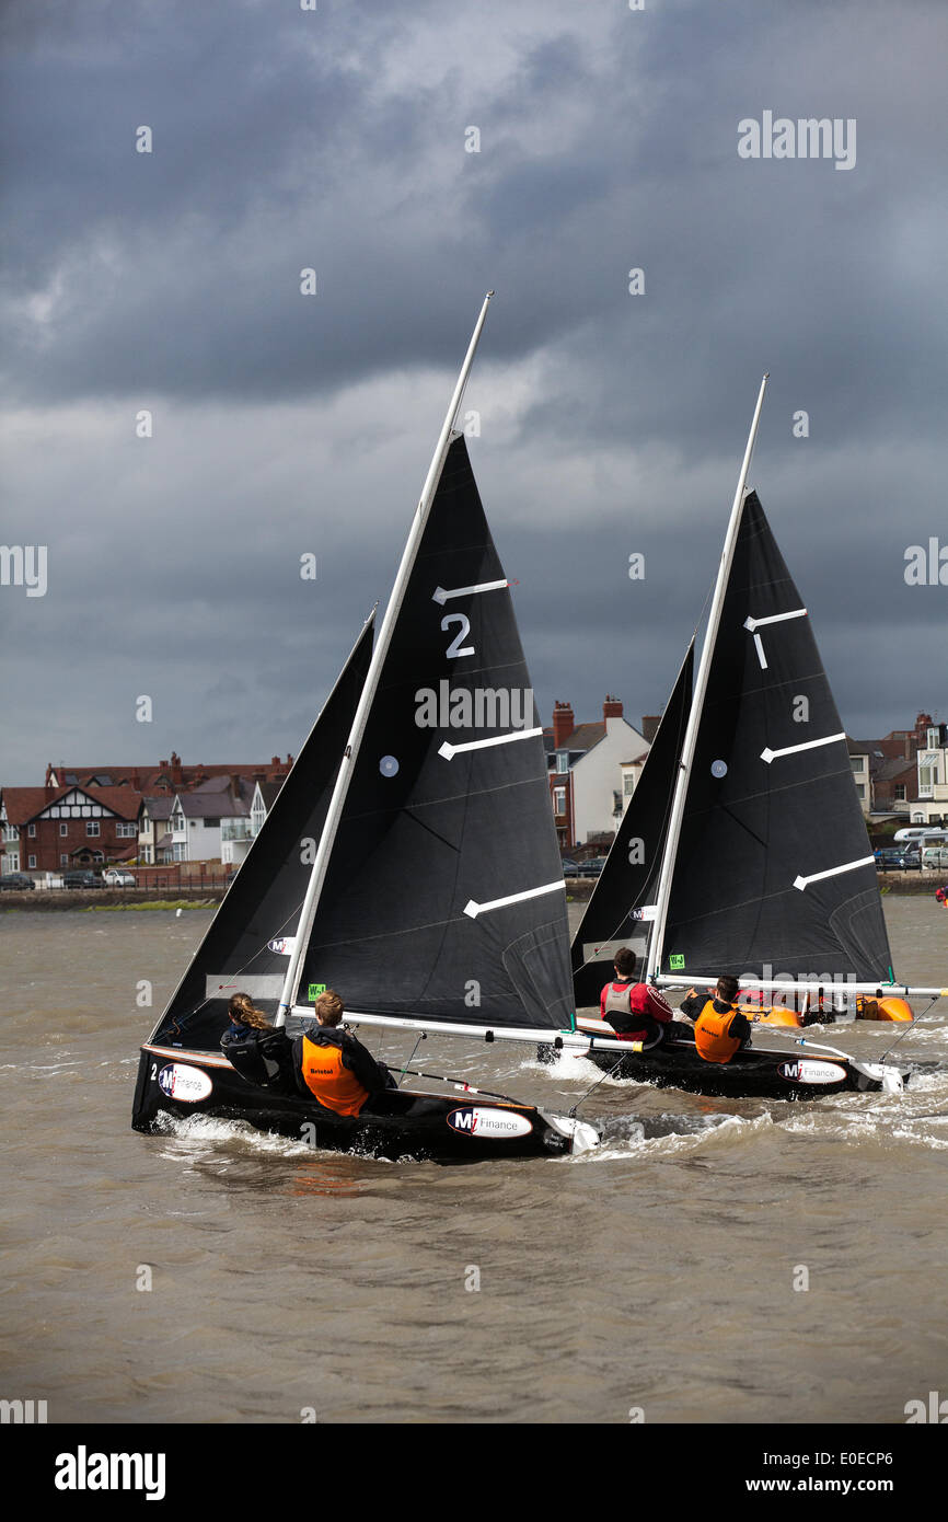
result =
M294 936L315 843L371 659L374 615L313 724L234 877L224 903L164 1011L152 1041L213 1052L228 1023L231 994L248 992L275 1015L288 968L269 942Z

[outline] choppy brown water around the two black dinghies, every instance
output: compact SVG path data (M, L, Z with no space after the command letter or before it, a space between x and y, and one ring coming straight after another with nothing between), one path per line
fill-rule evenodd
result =
M948 913L886 913L899 976L948 986ZM50 1422L901 1423L948 1390L948 1000L898 1047L945 1070L902 1096L606 1081L580 1158L393 1164L198 1117L137 1135L138 1043L207 922L0 915L5 1399ZM878 1058L896 1033L825 1040ZM418 1056L561 1111L600 1076Z

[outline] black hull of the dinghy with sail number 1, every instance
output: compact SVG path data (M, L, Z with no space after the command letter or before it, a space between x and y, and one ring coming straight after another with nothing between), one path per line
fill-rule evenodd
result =
M638 1084L656 1084L659 1088L682 1088L689 1094L709 1094L729 1099L823 1099L826 1094L880 1093L881 1079L875 1079L843 1056L822 1052L796 1056L787 1047L749 1047L738 1052L730 1062L706 1062L698 1056L692 1041L673 1041L653 1052L630 1052L628 1056L613 1052L589 1052L589 1059L612 1073ZM616 1062L619 1064L616 1067ZM907 1073L898 1071L904 1082ZM806 1078L819 1081L808 1082Z

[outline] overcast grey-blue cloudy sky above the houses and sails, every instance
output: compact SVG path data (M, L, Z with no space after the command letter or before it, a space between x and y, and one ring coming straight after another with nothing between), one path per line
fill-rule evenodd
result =
M46 595L0 586L0 784L297 752L488 288L464 409L545 723L662 708L764 370L752 484L843 723L948 718L948 586L904 577L948 549L943 0L6 0L0 35L0 540L47 546ZM765 111L855 122L855 163L740 157Z

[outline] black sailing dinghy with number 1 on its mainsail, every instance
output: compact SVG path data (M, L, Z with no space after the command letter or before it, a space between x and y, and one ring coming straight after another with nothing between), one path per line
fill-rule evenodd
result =
M733 499L692 693L689 648L572 945L577 1006L598 1005L612 957L628 945L647 980L782 994L937 997L895 983L875 861L810 615L756 492L747 490L767 377ZM747 1009L750 1015L752 1011ZM810 1017L813 1018L813 1015ZM590 1035L612 1027L578 1020ZM590 1053L618 1078L703 1094L817 1097L893 1091L907 1070L797 1038L797 1055L755 1026L730 1062L705 1062L688 1038Z

